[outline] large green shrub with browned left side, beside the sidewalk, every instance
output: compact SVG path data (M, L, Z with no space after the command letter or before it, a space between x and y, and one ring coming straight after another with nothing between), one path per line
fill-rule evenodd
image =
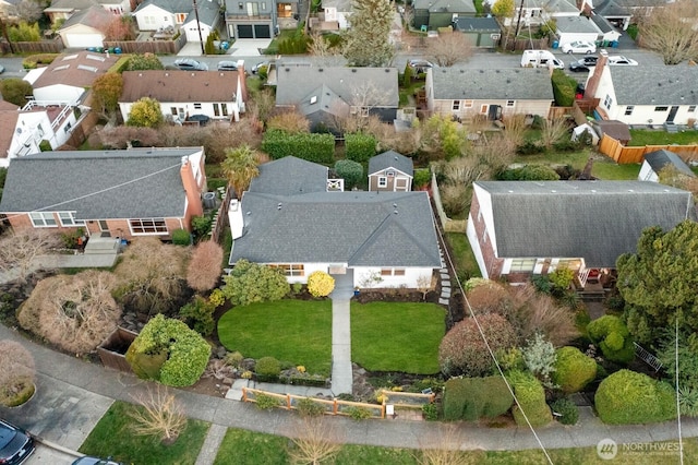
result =
M159 313L143 326L125 358L139 378L188 386L201 378L209 356L210 346L198 333Z

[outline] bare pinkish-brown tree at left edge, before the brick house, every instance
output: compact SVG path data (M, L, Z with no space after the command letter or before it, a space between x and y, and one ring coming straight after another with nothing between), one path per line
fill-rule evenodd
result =
M34 269L50 266L47 261L39 263L39 257L60 246L60 237L50 229L8 230L0 237L0 272L15 274L26 283Z

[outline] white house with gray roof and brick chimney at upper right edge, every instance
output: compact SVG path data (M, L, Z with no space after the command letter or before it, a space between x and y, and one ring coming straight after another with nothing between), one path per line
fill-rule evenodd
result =
M600 60L585 95L599 98L599 119L631 127L687 127L698 120L698 67L609 67Z

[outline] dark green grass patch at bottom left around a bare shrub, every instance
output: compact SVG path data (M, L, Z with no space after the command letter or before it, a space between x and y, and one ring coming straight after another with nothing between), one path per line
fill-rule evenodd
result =
M130 428L131 404L116 401L92 430L80 452L139 465L194 464L209 425L188 420L186 428L172 445L163 445L152 437L136 436Z

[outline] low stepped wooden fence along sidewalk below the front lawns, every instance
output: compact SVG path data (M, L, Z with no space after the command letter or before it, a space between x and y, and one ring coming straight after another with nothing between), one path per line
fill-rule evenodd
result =
M287 410L298 409L298 402L303 398L309 398L317 405L322 405L325 408L327 415L344 415L350 416L351 408L363 408L371 413L371 418L385 418L386 405L393 405L394 407L402 408L421 408L424 404L431 404L434 402L434 394L416 394L407 392L393 392L383 390L383 403L382 404L368 404L364 402L351 402L340 401L338 398L325 400L316 397L305 397L294 394L278 394L275 392L262 391L258 389L243 388L242 401L243 402L256 402L257 395L266 395L274 397L278 401L280 408ZM387 400L400 400L401 402L386 402Z

